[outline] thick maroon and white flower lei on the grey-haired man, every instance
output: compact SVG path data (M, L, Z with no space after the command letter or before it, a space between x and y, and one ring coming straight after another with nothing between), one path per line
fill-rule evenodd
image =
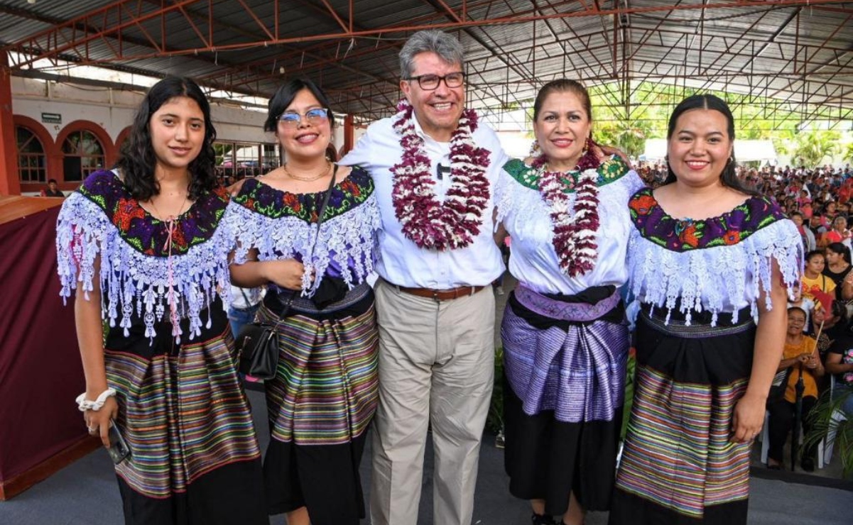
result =
M421 248L438 251L470 245L479 234L489 201L485 176L489 151L474 146L471 138L477 129L477 113L473 109L462 112L450 136L450 188L442 203L433 190L430 160L423 139L415 132L409 101L400 101L397 112L394 130L401 136L403 157L391 169L392 202L403 235Z

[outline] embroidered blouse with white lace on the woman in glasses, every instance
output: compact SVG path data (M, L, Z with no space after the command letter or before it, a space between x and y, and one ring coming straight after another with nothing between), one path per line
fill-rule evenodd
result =
M366 280L374 268L380 228L373 181L354 167L335 184L317 236L316 214L324 194L289 193L262 179L244 182L226 217L237 241L235 262L246 262L251 248L258 249L261 261L296 258L305 265L304 295L316 291L324 275L339 277L350 288Z

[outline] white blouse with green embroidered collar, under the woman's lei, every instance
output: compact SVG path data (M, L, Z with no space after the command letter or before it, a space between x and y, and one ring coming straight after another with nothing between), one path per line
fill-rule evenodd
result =
M497 221L513 239L509 273L525 286L540 293L577 294L590 286L622 286L628 277L625 252L630 234L626 204L630 195L644 184L634 170L618 157L601 163L599 179L599 219L595 234L598 246L595 268L587 274L569 277L560 271L554 251L554 225L548 204L539 192L538 170L519 159L504 164L495 187ZM566 184L570 204L574 189ZM572 210L570 210L570 213Z

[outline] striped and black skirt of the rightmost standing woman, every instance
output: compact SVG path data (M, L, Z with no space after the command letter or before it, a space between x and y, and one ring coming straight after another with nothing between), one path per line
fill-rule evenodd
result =
M634 405L619 465L611 525L746 524L750 444L735 443L732 414L751 373L748 309L711 327L648 314L637 319ZM662 312L662 314L665 314Z

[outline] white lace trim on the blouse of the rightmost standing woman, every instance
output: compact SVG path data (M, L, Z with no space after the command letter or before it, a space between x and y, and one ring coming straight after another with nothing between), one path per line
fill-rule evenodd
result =
M736 245L715 246L690 251L670 251L644 239L639 231L631 233L628 246L628 272L634 303L650 303L650 310L667 309L666 322L681 299L679 310L690 324L690 310L711 312L711 326L717 314L731 312L733 322L738 310L751 307L758 320L758 297L769 291L773 262L779 265L789 296L798 284L803 268L803 246L793 222L780 220L761 228ZM770 294L765 306L772 309ZM636 314L639 304L632 304Z

